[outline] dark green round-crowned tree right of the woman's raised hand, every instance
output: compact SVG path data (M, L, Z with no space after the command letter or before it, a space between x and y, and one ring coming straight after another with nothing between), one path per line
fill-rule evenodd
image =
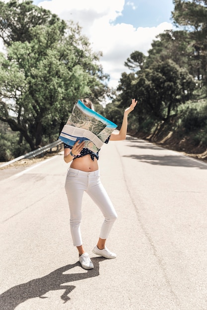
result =
M143 110L158 121L167 121L194 87L193 77L172 60L154 63L142 70L136 83Z

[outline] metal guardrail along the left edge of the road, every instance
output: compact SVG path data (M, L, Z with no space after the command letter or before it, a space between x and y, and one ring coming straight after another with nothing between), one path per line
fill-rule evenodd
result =
M55 147L57 147L57 149L58 149L60 144L62 144L62 141L61 141L61 140L57 140L57 141L55 141L55 142L53 142L53 143L51 143L51 144L48 144L48 145L46 145L46 146L44 146L44 147L41 147L41 148L37 149L37 150L35 150L35 151L31 151L31 152L29 152L29 153L27 153L27 154L25 154L25 155L21 155L21 156L19 156L19 157L16 157L16 158L14 158L14 159L11 159L11 160L9 160L9 161L7 161L7 162L4 162L3 164L0 165L0 168L1 168L1 167L5 167L5 166L7 166L7 165L9 165L9 164L11 164L11 163L13 163L13 162L15 162L15 161L21 160L21 159L25 159L25 158L26 158L26 159L34 158L34 157L36 157L36 156L38 156L38 155L41 155L41 154L47 152L48 150L51 151L52 148L55 148Z

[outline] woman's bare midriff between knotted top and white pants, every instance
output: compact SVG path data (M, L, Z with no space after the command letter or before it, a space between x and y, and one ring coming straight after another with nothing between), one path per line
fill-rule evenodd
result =
M98 161L94 157L94 161L91 159L90 155L84 155L72 160L70 167L73 169L90 172L98 170Z

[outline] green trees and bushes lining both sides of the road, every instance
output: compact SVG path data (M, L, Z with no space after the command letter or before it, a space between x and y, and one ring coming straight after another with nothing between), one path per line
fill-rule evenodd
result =
M121 126L131 98L129 132L207 158L207 0L174 0L174 29L147 55L132 51L116 90L81 29L32 1L0 1L0 160L58 139L73 104L88 96ZM105 108L100 102L111 98Z

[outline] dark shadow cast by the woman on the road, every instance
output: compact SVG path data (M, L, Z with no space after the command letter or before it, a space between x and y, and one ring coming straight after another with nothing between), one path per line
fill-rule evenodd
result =
M66 303L70 300L68 295L75 288L75 286L64 285L64 283L97 277L99 275L99 262L105 259L106 258L103 257L91 258L94 268L86 270L87 272L84 273L63 274L76 266L80 266L79 261L77 261L74 264L58 268L42 278L16 285L0 295L0 309L14 310L19 304L27 301L28 299L35 297L47 298L43 295L49 291L56 290L65 290L64 294L61 296L61 299L64 303Z

